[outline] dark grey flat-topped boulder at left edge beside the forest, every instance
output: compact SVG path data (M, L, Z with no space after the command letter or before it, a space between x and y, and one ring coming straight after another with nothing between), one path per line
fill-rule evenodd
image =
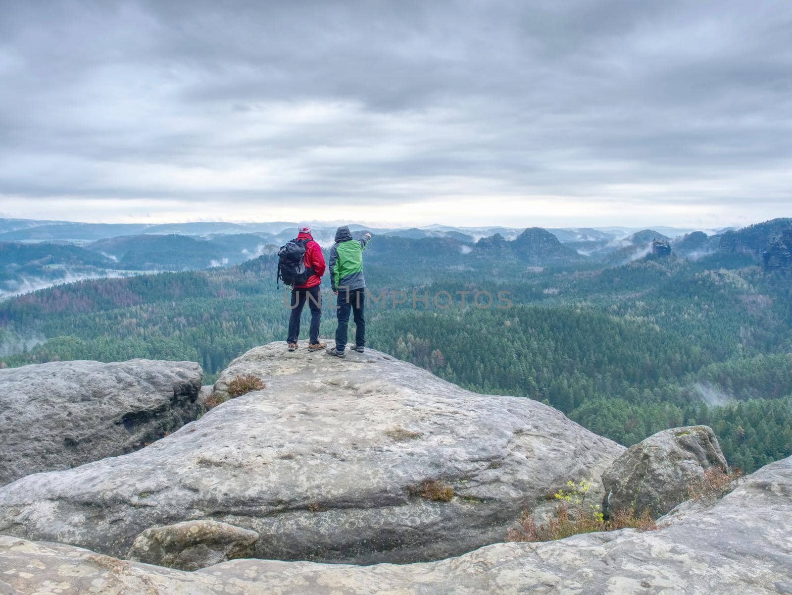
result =
M0 485L142 448L196 417L192 362L64 361L0 370Z

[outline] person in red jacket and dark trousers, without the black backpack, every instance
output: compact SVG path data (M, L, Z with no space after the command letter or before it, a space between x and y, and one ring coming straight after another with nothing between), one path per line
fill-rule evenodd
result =
M310 308L310 338L308 351L325 349L325 344L319 342L319 323L322 322L322 275L325 274L325 256L322 248L314 242L311 235L310 223L300 223L297 228L297 240L307 240L305 245L305 266L312 269L314 274L302 285L295 285L291 290L291 316L289 318L289 336L287 343L289 351L297 349L299 338L299 319L303 314L303 307L308 303Z

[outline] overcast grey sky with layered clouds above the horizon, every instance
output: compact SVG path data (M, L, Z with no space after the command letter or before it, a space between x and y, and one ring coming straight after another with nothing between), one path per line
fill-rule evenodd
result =
M0 216L792 216L792 2L0 0Z

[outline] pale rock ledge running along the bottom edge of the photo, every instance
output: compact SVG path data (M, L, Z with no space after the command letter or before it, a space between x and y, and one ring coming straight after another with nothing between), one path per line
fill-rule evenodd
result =
M235 560L184 573L0 537L0 593L5 582L9 593L57 585L64 595L779 595L792 588L790 516L792 458L657 531L497 544L405 566Z

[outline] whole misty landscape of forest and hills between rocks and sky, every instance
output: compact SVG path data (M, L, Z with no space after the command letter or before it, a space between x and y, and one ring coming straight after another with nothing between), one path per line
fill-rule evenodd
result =
M211 383L253 346L285 341L275 271L290 223L0 225L2 368L190 360ZM366 277L384 299L369 345L473 391L546 402L627 446L710 425L751 472L792 454L790 230L374 229ZM333 231L314 235L329 246ZM25 292L36 284L51 287ZM505 292L510 307L425 298L475 292Z

